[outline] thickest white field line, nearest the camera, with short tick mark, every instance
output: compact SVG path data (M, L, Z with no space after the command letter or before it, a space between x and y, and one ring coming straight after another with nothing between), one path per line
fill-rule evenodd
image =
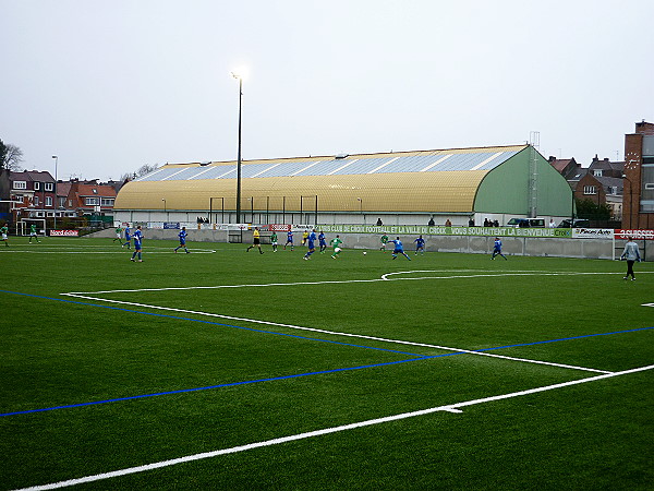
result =
M622 372L606 373L603 375L590 376L586 379L573 380L570 382L562 382L562 383L554 384L554 385L546 385L543 387L530 388L526 391L512 392L510 394L501 394L501 395L497 395L497 396L484 397L481 399L467 400L463 403L456 403L456 404L450 404L447 406L438 406L438 407L422 409L422 410L417 410L417 411L402 412L400 415L386 416L384 418L368 419L367 421L360 421L360 422L350 423L350 424L342 424L340 427L325 428L323 430L308 431L306 433L299 433L299 434L294 434L294 435L290 435L290 436L281 436L278 439L266 440L264 442L256 442L256 443L250 443L246 445L233 446L231 448L222 448L222 450L213 451L213 452L204 452L201 454L187 455L185 457L172 458L170 460L161 460L161 462L157 462L157 463L153 463L153 464L146 464L143 466L128 467L124 469L113 470L111 472L96 474L94 476L86 476L86 477L76 478L76 479L69 479L65 481L53 482L50 484L23 488L17 491L27 491L27 490L40 491L40 490L65 488L69 486L84 484L87 482L95 482L95 481L99 481L99 480L104 480L104 479L111 479L111 478L116 478L116 477L128 476L131 474L145 472L145 471L153 470L153 469L160 469L162 467L170 467L170 466L174 466L178 464L184 464L187 462L202 460L205 458L218 457L220 455L235 454L239 452L246 452L246 451L251 451L254 448L262 448L262 447L266 447L266 446L278 445L281 443L294 442L298 440L306 440L306 439L311 439L311 438L315 438L315 436L322 436L325 434L339 433L341 431L349 431L349 430L354 430L358 428L371 427L373 424L382 424L382 423L387 423L390 421L398 421L401 419L415 418L417 416L425 416L425 415L429 415L429 414L438 412L438 411L462 412L461 408L468 407L468 406L474 406L477 404L486 404L486 403L492 403L495 400L502 400L502 399L509 399L512 397L521 397L521 396L526 396L526 395L531 395L531 394L537 394L540 392L553 391L556 388L562 388L562 387L567 387L567 386L571 386L571 385L585 384L588 382L595 382L598 380L609 379L613 376L628 375L631 373L642 372L642 371L652 370L652 369L654 369L654 364L651 364L649 367L631 369L631 370L625 370Z

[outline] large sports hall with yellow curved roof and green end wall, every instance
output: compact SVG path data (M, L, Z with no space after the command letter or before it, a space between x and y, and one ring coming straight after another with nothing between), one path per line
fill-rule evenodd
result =
M237 223L235 161L167 164L126 183L119 221ZM531 145L244 160L241 223L505 225L570 217L572 191Z

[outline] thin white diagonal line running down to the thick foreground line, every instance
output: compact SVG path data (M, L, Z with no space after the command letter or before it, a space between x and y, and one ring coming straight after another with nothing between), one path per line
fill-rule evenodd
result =
M304 326L293 325L293 324L281 324L278 322L261 321L258 319L237 318L233 315L223 315L223 314L217 314L217 313L211 313L211 312L201 312L201 311L186 310L186 309L174 309L172 307L152 306L148 303L128 302L128 301L123 301L123 300L111 300L111 299L89 297L86 295L72 294L72 292L71 294L61 294L61 295L64 295L68 297L74 297L74 298L82 298L85 300L118 303L121 306L138 307L142 309L165 310L165 311L169 311L169 312L178 312L178 313L185 313L185 314L193 314L193 315L204 315L204 316L209 316L209 318L227 319L230 321L239 321L239 322L251 322L251 323L255 323L255 324L272 325L276 327L287 327L287 328L299 330L299 331L310 331L312 333L328 334L331 336L355 337L355 338L360 338L360 339L368 339L368 340L376 340L376 342L383 342L383 343L392 343L392 344L398 344L398 345L420 346L420 347L424 347L424 348L443 349L446 351L456 351L456 352L476 355L476 356L489 357L489 358L500 358L504 360L522 361L525 363L546 364L549 367L558 367L558 368L566 368L566 369L572 369L572 370L584 370L588 372L596 372L596 373L611 373L606 370L596 370L596 369L584 368L584 367L576 367L576 366L571 366L571 364L553 363L549 361L540 361L540 360L529 360L525 358L507 357L504 355L495 355L495 354L491 354L491 352L486 352L486 351L472 351L469 349L450 348L447 346L429 345L429 344L425 344L425 343L413 343L413 342L405 342L405 340L400 340L400 339L386 339L384 337L365 336L363 334L339 333L339 332L335 332L335 331L319 330L316 327L304 327Z

